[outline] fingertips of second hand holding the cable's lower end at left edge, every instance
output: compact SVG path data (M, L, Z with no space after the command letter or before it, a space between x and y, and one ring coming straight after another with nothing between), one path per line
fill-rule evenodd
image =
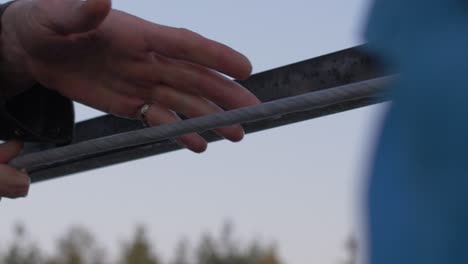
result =
M18 141L0 144L0 198L18 198L28 194L28 175L6 165L19 154L21 147Z

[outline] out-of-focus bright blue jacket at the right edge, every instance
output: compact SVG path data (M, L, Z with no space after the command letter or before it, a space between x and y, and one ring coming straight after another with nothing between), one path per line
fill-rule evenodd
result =
M400 73L370 180L371 263L468 263L468 1L376 0L366 35Z

